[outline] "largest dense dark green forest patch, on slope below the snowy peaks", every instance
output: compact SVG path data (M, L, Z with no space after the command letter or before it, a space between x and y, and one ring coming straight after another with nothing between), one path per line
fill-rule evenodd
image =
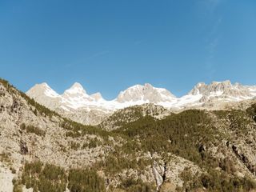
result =
M171 152L192 162L202 163L198 148L214 140L214 127L209 126L210 119L206 112L186 110L161 121L146 116L114 132L125 134L130 139L138 138L140 142L137 145L126 146L131 149L135 147L133 150Z

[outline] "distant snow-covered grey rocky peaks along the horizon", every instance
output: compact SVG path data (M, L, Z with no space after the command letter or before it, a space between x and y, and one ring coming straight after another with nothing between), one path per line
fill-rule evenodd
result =
M102 94L87 94L81 84L75 82L63 94L58 94L46 82L33 86L26 92L30 98L52 110L65 110L66 112L85 110L99 110L111 113L127 106L154 103L172 110L182 110L187 107L199 107L214 102L238 102L256 96L256 86L243 86L231 84L230 81L212 82L206 85L198 83L194 88L181 98L171 94L164 88L156 88L146 83L144 86L135 85L118 94L114 100L107 101Z

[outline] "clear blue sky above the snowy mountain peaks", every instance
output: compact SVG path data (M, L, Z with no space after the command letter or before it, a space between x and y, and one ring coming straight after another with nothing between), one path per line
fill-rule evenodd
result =
M0 77L117 96L151 83L256 84L255 0L1 0Z

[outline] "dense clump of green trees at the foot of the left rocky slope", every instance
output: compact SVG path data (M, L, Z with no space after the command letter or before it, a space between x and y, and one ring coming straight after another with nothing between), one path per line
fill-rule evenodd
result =
M105 183L95 170L64 170L59 166L43 165L42 162L26 162L21 183L34 191L104 192ZM18 185L17 185L18 186Z

